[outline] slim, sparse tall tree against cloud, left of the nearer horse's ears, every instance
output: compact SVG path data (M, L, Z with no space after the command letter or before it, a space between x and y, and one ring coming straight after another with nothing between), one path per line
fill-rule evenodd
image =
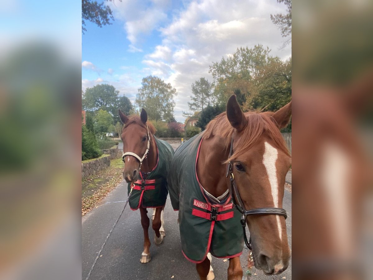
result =
M210 105L211 84L205 78L195 81L192 84L192 102L188 102L189 110L202 111L203 108Z

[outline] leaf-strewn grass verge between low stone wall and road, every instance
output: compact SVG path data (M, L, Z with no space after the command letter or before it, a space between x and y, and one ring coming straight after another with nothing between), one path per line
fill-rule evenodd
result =
M82 216L94 208L123 180L122 158L112 159L110 167L82 181Z

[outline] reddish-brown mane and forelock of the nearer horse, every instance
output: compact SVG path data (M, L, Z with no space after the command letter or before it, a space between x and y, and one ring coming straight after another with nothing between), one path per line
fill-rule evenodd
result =
M289 155L288 148L285 145L276 121L272 118L273 112L246 112L244 114L248 122L242 131L242 141L235 143L233 155L226 162L237 158L250 149L264 132L275 142L278 149ZM234 130L228 121L226 112L223 112L207 124L203 137L208 139L212 136L218 136L226 141L225 146L229 149Z

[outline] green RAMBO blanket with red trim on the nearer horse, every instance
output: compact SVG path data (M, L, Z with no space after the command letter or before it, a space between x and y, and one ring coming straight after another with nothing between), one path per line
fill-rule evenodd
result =
M231 197L222 204L211 204L198 181L196 163L202 134L176 150L167 177L172 207L179 210L182 252L194 263L202 262L208 252L217 258L239 256L244 246L241 213Z

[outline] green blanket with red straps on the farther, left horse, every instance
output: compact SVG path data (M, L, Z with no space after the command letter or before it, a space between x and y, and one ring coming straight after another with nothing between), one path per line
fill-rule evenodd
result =
M167 199L167 174L175 153L166 141L157 139L158 161L153 170L146 175L140 172L140 179L135 181L134 189L129 197L129 206L132 210L143 208L162 207ZM131 191L131 183L128 183L128 195Z

